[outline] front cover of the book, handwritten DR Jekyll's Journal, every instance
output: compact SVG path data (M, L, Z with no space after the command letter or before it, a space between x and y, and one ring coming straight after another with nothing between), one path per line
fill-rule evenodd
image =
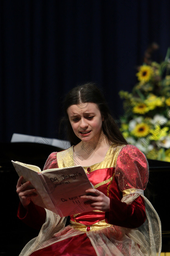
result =
M48 170L39 176L60 217L94 210L80 198L85 190L94 188L82 166Z

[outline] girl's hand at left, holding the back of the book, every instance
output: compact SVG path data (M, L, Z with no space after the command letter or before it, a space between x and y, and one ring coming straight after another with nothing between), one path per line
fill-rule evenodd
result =
M31 184L30 181L27 181L24 184L22 184L22 180L23 180L23 177L21 176L16 185L16 192L19 195L19 199L20 199L22 205L24 206L24 208L27 208L27 206L31 202L31 198L36 197L37 194L35 193L35 191L36 191L35 188L26 190L28 185Z

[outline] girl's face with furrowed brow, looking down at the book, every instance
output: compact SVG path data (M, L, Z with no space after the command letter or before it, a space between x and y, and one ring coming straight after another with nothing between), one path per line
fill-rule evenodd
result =
M82 105L71 105L67 114L74 133L80 140L89 142L99 137L102 132L102 121L100 110L95 103L87 102Z

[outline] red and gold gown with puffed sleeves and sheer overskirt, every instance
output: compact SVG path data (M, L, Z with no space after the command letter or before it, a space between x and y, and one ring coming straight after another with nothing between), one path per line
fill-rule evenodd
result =
M72 146L49 155L44 169L79 165L79 160ZM144 154L133 145L112 144L102 162L84 169L94 188L110 197L110 211L75 212L65 227L66 218L33 203L24 212L20 204L18 217L24 222L38 228L45 221L20 255L160 255L160 220L143 193L148 182Z

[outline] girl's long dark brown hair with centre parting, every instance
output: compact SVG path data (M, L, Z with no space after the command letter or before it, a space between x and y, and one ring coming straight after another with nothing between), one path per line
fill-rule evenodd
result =
M79 105L80 108L85 108L88 105L88 102L95 103L100 110L101 116L104 117L104 121L102 123L102 130L104 134L107 136L107 139L110 142L119 145L128 144L127 141L124 139L122 133L120 132L119 127L115 122L114 118L111 116L108 105L99 88L93 83L87 83L74 87L66 95L63 101L65 117L61 119L60 130L62 124L65 123L67 140L70 140L71 146L78 144L81 140L73 132L67 114L67 109L71 105Z

